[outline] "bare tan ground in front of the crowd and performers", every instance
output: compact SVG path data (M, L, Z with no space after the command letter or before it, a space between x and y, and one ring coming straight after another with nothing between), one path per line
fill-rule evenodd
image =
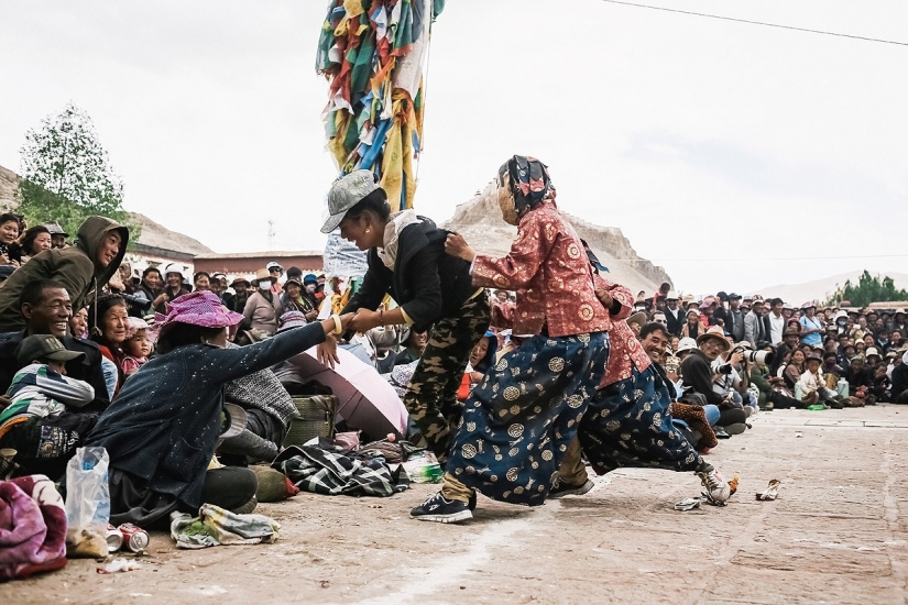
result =
M391 498L300 494L262 505L271 546L182 551L142 569L94 560L0 585L0 603L905 603L908 407L762 413L709 460L741 486L679 513L688 474L630 470L535 509L480 497L472 521L408 518L437 486ZM779 499L756 502L767 482Z

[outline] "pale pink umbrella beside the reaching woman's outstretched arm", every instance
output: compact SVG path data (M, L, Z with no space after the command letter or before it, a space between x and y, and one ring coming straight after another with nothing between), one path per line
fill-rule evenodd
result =
M316 359L316 348L289 360L303 381L327 386L338 398L337 414L353 428L381 439L387 433L404 437L407 410L394 388L374 366L338 349L340 363L326 367Z

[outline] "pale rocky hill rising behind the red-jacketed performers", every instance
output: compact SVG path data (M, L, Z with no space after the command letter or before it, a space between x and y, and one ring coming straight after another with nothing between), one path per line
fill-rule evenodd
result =
M609 267L609 279L627 286L634 294L652 294L663 282L671 283L663 267L637 256L621 229L599 227L571 216L568 220ZM458 206L442 227L461 233L477 252L494 255L506 254L516 234L516 228L501 218L497 201L485 195Z

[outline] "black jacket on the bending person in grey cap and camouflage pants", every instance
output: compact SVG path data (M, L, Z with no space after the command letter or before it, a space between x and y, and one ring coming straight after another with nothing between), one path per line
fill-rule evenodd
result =
M445 253L448 231L425 217L405 227L397 239L394 271L387 268L375 249L369 251L369 271L360 290L344 314L365 308L375 310L386 294L413 319L413 329L423 332L450 317L477 290L470 263Z

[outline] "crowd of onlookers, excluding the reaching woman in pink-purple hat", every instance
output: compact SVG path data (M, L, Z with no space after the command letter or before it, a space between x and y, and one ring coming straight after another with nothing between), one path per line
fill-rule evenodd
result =
M73 436L85 435L87 419L97 418L154 354L155 312L166 314L167 302L180 296L210 292L241 314L229 331L236 345L325 319L349 296L319 272L276 262L251 278L190 274L179 264L133 270L124 262L128 241L125 228L100 217L70 238L56 223L26 228L15 215L0 216L0 446L10 444L13 420L43 409L41 426L58 433L54 447L72 450ZM493 327L470 355L460 399L497 356L521 343L521 334L494 328L513 318L513 294L489 296ZM723 438L746 430L759 409L908 403L902 309L796 308L724 292L694 298L664 284L653 296L637 296L627 322L671 385L679 427L694 442L709 430L687 422L682 406L702 410ZM347 345L402 393L428 337L389 326L355 334ZM88 388L78 400L61 396L65 405L55 400L54 407L36 386L47 381ZM53 459L32 461L31 471L58 475L59 468L47 468Z

